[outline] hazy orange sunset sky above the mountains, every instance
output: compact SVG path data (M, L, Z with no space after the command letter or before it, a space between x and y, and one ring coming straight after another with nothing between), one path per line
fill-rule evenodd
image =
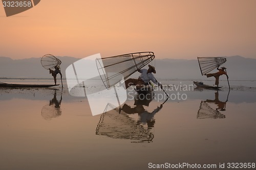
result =
M256 1L42 0L6 17L0 56L109 57L153 51L156 58L256 58Z

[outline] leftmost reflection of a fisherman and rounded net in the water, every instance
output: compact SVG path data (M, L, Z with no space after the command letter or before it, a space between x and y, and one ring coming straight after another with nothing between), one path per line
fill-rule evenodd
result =
M46 120L51 120L52 118L58 117L61 115L61 105L62 93L60 94L60 100L57 100L57 89L54 89L53 99L50 100L48 105L42 107L41 116Z

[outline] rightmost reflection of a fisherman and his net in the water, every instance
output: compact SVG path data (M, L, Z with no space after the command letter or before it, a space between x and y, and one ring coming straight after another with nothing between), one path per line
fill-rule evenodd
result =
M226 101L222 102L219 100L219 90L217 90L215 92L214 100L207 99L206 101L201 101L200 108L197 113L197 118L198 119L201 119L201 118L215 118L215 119L216 118L225 118L226 116L224 114L222 114L221 112L226 110L228 95L229 95L229 91L227 94ZM213 106L210 104L214 104L215 108L213 108Z

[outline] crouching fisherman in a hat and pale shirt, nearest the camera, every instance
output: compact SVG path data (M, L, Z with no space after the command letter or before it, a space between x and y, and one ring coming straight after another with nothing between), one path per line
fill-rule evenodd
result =
M155 79L154 74L156 74L156 69L152 65L148 65L148 69L137 69L141 73L138 79L128 79L126 80L125 83L125 88L128 88L132 85L136 86L137 89L140 89L147 85L150 81L155 83L156 85L159 85L161 88L163 86Z

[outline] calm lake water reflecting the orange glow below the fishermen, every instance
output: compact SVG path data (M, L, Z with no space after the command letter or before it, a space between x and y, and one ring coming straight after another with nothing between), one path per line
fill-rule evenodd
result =
M128 99L96 116L88 99L71 96L63 83L63 90L0 88L0 169L153 169L164 163L217 165L208 169L225 163L222 169L231 169L229 162L256 163L255 81L230 81L230 91L226 81L219 91L162 81L172 99L155 91L152 101Z

